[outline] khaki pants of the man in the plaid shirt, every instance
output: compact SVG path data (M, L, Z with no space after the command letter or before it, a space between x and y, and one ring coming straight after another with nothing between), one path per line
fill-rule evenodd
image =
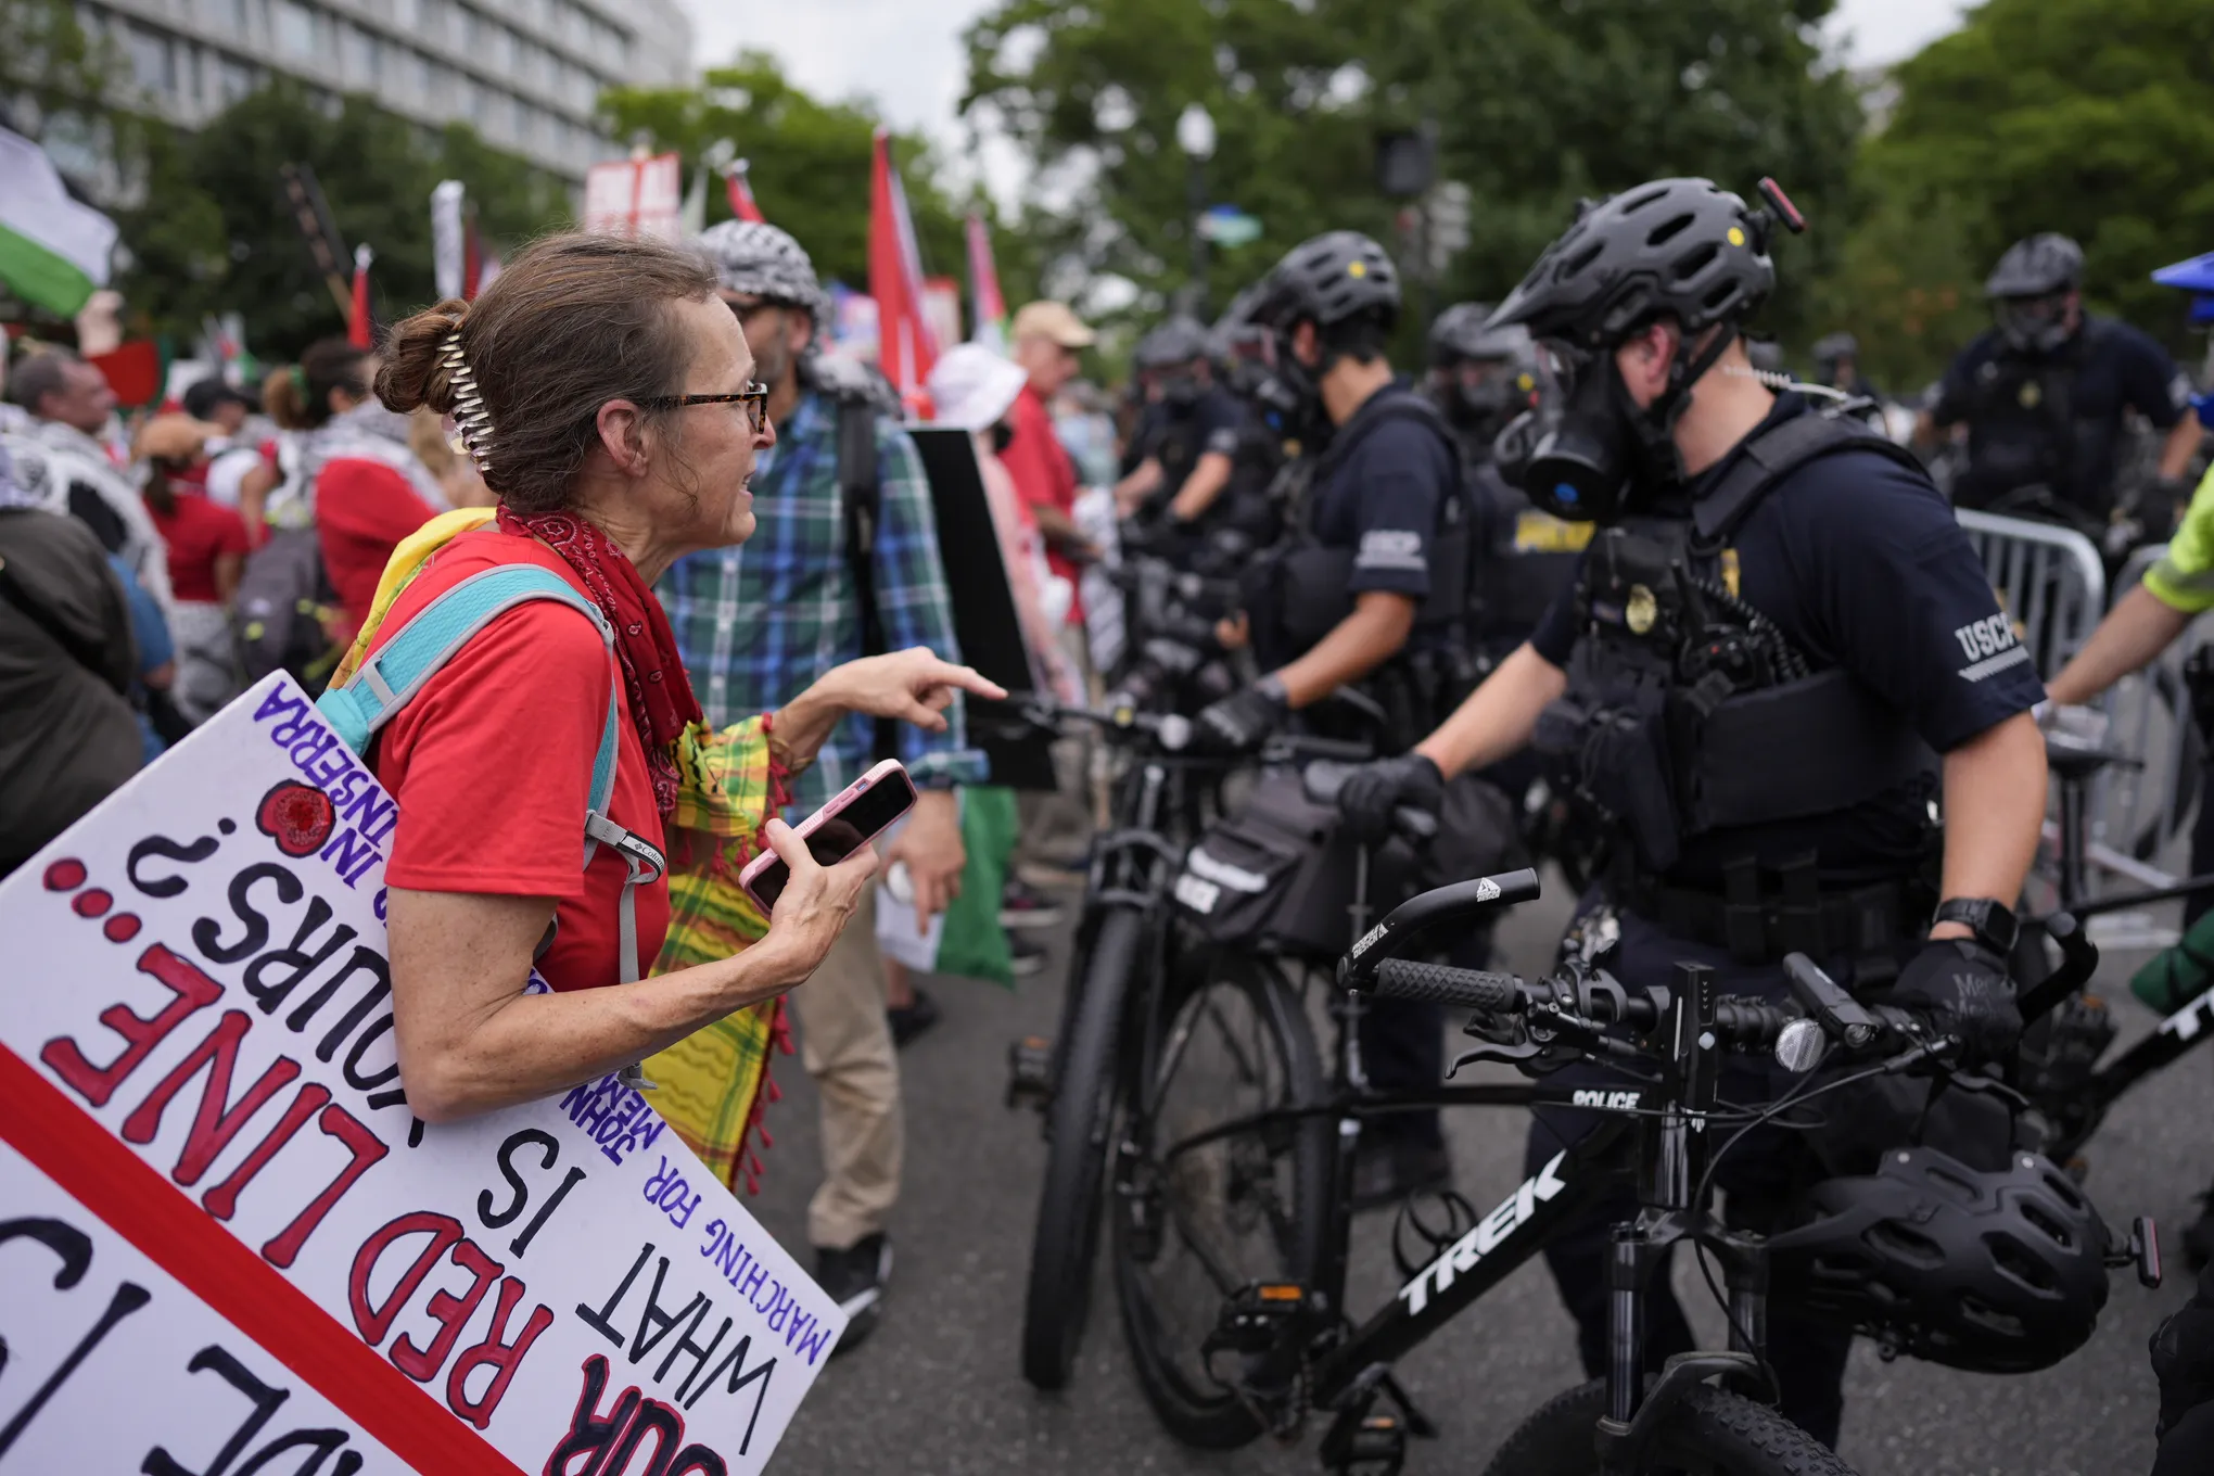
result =
M875 898L868 887L821 967L784 996L799 1018L799 1064L821 1095L824 1184L808 1202L808 1241L821 1250L883 1230L899 1199L906 1120L883 1018Z

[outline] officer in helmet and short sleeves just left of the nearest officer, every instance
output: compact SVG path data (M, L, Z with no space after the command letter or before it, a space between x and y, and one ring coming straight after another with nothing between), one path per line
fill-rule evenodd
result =
M1258 748L1295 710L1359 688L1388 713L1388 730L1370 737L1397 752L1459 695L1470 562L1459 451L1384 356L1397 319L1390 257L1351 230L1295 246L1246 310L1246 323L1266 330L1273 376L1255 394L1313 462L1289 544L1249 580L1253 655L1266 675L1196 719L1218 748ZM1503 808L1501 828L1512 830ZM1362 1047L1379 1084L1435 1084L1444 1073L1435 1007L1370 1011ZM1362 1148L1364 1204L1448 1171L1435 1113L1397 1113Z

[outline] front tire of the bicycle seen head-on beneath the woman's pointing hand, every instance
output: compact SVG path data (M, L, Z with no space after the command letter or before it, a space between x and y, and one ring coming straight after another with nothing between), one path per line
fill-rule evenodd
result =
M1067 1387L1083 1343L1092 1259L1098 1255L1100 1193L1107 1182L1122 1007L1145 945L1145 918L1118 907L1100 921L1080 978L1072 980L1078 998L1045 1113L1045 1182L1038 1188L1038 1228L1030 1241L1030 1286L1023 1297L1023 1379L1041 1390Z

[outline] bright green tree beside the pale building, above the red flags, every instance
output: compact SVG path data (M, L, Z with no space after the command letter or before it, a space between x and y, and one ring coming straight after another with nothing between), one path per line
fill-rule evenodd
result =
M702 155L731 139L748 164L762 215L793 232L817 277L866 290L877 131L877 117L866 106L810 97L786 80L775 58L746 51L731 66L711 69L700 86L609 89L600 93L600 117L618 139L644 137L653 148L680 153L686 188ZM894 135L892 157L908 190L923 268L965 277L961 217L981 201L956 201L937 184L923 139ZM731 206L720 181L708 181L706 221L724 219L731 219ZM1012 294L1032 272L1007 232L999 232L996 246Z

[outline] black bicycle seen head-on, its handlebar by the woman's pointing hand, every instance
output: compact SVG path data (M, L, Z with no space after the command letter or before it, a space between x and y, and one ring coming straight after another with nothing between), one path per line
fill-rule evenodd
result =
M1096 728L1120 755L1114 825L1094 839L1061 1029L1010 1051L1007 1104L1045 1115L1047 1160L1038 1191L1023 1299L1023 1376L1041 1390L1069 1381L1089 1312L1116 1106L1129 1091L1134 1036L1160 1014L1165 980L1182 978L1180 938L1167 894L1184 848L1220 808L1222 777L1249 759L1193 752L1193 728L1176 713L1131 699L1103 710L1016 704L1003 717L1032 730ZM1280 737L1262 763L1370 757L1364 744Z

